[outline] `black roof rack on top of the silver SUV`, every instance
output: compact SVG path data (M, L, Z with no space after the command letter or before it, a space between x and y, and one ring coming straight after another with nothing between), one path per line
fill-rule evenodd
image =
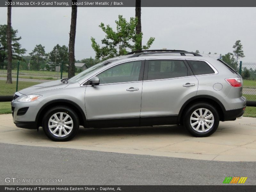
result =
M161 53L180 53L182 56L186 56L186 54L192 54L194 56L202 56L198 53L194 52L187 52L187 51L182 51L182 50L141 50L141 51L133 51L129 52L126 55L131 55L131 57L138 57L140 55L145 55L145 54L161 54Z

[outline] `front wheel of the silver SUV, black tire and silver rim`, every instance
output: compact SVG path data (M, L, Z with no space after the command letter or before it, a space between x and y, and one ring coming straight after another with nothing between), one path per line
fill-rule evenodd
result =
M63 121L60 121L62 118ZM53 141L71 140L79 129L79 119L73 109L56 106L49 109L43 118L43 130Z

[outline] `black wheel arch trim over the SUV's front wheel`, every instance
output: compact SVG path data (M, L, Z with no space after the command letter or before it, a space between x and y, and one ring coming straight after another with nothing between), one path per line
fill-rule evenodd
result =
M36 115L37 127L42 126L43 116L44 116L45 112L48 109L58 106L58 105L67 106L69 108L72 108L76 112L76 114L79 118L80 125L82 125L84 127L88 127L86 117L85 117L85 114L84 114L84 111L82 110L82 108L79 105L77 105L75 102L73 102L71 100L66 100L66 99L57 99L57 100L52 100L52 101L45 103L43 105L43 107L41 107L39 109L39 111Z

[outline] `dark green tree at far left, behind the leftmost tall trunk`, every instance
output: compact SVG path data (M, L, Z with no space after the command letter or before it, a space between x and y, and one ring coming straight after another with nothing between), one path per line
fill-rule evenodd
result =
M12 59L21 60L21 55L27 50L21 48L19 40L21 37L17 37L18 30L14 30L11 27L11 41L12 41ZM7 25L0 25L0 65L4 69L4 61L8 58L8 46L7 46Z

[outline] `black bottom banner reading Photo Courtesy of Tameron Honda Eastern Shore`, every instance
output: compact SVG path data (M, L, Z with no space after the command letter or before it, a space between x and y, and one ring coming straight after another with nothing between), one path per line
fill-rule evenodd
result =
M63 192L63 191L73 191L73 192L171 192L171 191L196 191L196 192L250 192L255 191L256 186L239 186L239 185L213 185L213 186L201 186L201 185L194 185L194 186L175 186L175 185L164 185L164 186L157 186L157 185L144 185L144 186L138 186L138 185L131 185L131 186L125 186L125 185L114 185L114 186L71 186L71 185L48 185L48 186L36 186L36 185L13 185L13 186L0 186L1 192Z

